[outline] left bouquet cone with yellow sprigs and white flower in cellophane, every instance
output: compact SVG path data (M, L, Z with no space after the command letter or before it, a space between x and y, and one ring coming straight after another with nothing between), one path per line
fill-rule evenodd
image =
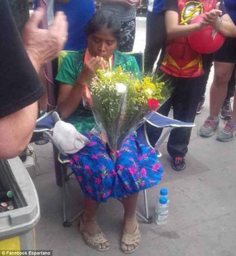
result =
M99 69L90 84L93 116L98 126L105 130L111 148L117 145L115 138L119 135L119 120L131 79L131 73L123 72L121 67L112 72Z

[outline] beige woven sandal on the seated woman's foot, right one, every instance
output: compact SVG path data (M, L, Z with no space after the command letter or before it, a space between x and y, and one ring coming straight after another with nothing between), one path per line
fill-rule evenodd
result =
M138 222L136 221L136 229L134 233L130 234L123 228L123 234L121 238L121 250L123 253L132 253L138 249L140 244L140 231L138 229Z

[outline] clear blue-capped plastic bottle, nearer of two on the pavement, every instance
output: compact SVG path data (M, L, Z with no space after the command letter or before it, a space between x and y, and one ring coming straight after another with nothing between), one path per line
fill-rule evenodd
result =
M169 205L165 196L160 197L156 208L156 224L165 225L167 223L167 217L169 215Z

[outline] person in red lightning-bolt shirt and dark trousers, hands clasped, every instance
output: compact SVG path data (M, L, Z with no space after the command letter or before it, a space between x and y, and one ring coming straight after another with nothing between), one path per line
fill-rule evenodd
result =
M211 25L224 36L233 38L236 37L236 26L226 13L222 0L168 0L163 11L167 44L160 69L175 89L158 113L168 116L172 106L175 119L193 123L198 102L204 93L205 77L202 55L191 48L187 36ZM202 22L191 24L191 19L203 13ZM176 171L186 167L185 155L188 152L190 136L189 127L176 128L170 133L167 150L172 157L171 166ZM156 141L158 139L159 136Z

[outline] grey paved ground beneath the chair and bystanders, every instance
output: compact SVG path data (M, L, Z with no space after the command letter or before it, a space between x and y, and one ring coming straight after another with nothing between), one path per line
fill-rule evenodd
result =
M143 51L144 45L145 19L138 18L134 51ZM157 226L155 223L145 224L139 219L142 240L133 255L236 255L236 140L224 143L218 142L216 135L208 139L198 136L200 126L208 116L211 81L212 73L205 107L196 117L196 126L192 130L186 169L180 172L172 170L166 142L163 143L161 162L165 176L159 186L147 192L149 211L153 215L159 189L168 188L168 223ZM123 214L121 204L111 199L100 205L98 222L109 238L111 248L103 253L91 249L78 231L77 220L70 228L62 225L61 188L55 184L51 143L33 146L38 162L33 180L41 207L41 219L36 226L36 248L52 249L54 256L123 255L119 246ZM83 208L83 194L74 177L67 182L67 192L67 210L73 216ZM138 210L143 211L142 193Z

